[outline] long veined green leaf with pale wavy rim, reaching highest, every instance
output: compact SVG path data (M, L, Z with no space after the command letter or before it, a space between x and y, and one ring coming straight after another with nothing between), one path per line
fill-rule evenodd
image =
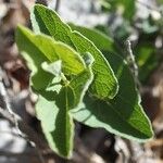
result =
M90 87L90 92L100 99L115 97L117 82L114 73L102 53L90 40L75 30L72 32L70 26L63 23L55 12L43 5L36 4L34 7L32 24L36 33L50 35L55 40L67 43L82 55L85 55L86 52L91 53L95 59L92 65L95 80Z

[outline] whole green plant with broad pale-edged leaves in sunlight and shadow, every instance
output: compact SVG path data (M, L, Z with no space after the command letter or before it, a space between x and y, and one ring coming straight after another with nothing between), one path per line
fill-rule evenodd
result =
M73 118L138 141L152 138L134 77L112 38L71 28L40 4L32 11L32 24L34 33L17 27L16 43L32 71L36 114L53 151L72 155Z

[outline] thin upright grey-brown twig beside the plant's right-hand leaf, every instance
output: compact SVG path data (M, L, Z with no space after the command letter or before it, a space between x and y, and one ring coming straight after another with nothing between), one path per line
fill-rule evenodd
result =
M140 87L140 83L138 79L138 65L136 64L136 61L135 61L135 55L134 55L133 50L131 50L131 43L129 40L126 40L125 45L126 45L126 50L127 50L127 59L126 59L127 63L128 63L130 71L134 75L135 83L137 84L138 87Z

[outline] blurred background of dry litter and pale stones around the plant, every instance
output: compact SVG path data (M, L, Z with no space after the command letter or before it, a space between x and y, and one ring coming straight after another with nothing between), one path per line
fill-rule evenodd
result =
M97 28L112 37L123 51L131 42L138 65L142 105L155 137L137 143L76 123L73 159L55 155L47 147L36 149L17 135L0 112L0 163L163 163L163 0L38 0L57 10L62 20ZM30 27L35 0L0 0L0 83L12 109L34 130L32 137L46 143L35 117L37 97L28 88L29 71L14 41L17 24ZM4 105L0 87L0 108ZM12 120L11 120L12 121ZM38 142L39 143L39 142Z

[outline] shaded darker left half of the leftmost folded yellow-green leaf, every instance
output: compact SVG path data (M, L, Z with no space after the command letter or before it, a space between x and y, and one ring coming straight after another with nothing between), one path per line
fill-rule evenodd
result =
M42 71L41 63L48 59L28 41L28 38L23 33L22 28L16 29L16 45L21 54L27 61L27 65L32 71L30 85L35 86L35 89L46 88L49 82L52 79L51 75Z

